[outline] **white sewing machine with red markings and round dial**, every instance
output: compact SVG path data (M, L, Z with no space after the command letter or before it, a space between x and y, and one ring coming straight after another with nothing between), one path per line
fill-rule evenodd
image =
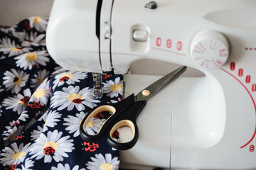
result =
M252 0L55 0L46 42L65 69L126 74L151 59L205 74L149 100L121 167L256 169L255 17ZM126 74L126 93L158 78Z

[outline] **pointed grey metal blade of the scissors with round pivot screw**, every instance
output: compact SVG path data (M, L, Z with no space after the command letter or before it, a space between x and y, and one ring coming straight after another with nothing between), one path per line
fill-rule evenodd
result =
M176 80L181 74L183 74L183 72L186 71L186 68L186 66L179 67L178 69L174 70L174 72L166 74L166 76L155 81L153 84L147 86L144 90L139 92L139 94L135 96L135 100L146 101L148 98L156 94L162 87L164 87L164 85Z

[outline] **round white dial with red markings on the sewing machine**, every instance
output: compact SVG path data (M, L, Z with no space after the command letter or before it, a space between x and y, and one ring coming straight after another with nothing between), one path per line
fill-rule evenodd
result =
M204 69L221 67L228 60L228 55L228 40L217 31L198 33L191 42L192 60Z

